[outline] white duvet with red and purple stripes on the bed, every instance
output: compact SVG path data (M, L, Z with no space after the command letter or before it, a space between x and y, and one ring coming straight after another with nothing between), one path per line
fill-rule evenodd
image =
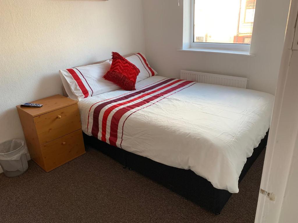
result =
M83 131L237 193L239 175L268 131L274 96L153 76L79 102Z

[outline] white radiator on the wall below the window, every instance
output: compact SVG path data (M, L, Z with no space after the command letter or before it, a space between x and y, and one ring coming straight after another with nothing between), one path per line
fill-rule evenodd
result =
M180 78L187 81L197 81L206 84L218 84L229 87L247 87L247 78L233 77L214 73L202 73L189 70L181 70Z

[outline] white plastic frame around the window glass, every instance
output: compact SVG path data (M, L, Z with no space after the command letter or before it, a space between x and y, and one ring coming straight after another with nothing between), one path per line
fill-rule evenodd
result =
M251 44L237 44L237 43L198 43L194 42L194 15L195 15L195 1L191 0L190 10L190 47L191 48L211 48L211 49L230 49L249 51Z

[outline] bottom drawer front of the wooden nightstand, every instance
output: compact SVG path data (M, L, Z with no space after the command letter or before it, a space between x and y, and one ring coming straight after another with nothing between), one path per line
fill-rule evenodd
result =
M41 146L46 172L85 153L82 130L77 130Z

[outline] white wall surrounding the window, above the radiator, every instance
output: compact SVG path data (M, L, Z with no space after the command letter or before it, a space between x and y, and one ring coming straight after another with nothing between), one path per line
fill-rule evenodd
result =
M143 2L146 56L159 75L179 78L183 69L248 77L250 89L274 94L290 0L257 1L251 45L254 57L177 51L183 41L183 0L180 7L176 0Z

